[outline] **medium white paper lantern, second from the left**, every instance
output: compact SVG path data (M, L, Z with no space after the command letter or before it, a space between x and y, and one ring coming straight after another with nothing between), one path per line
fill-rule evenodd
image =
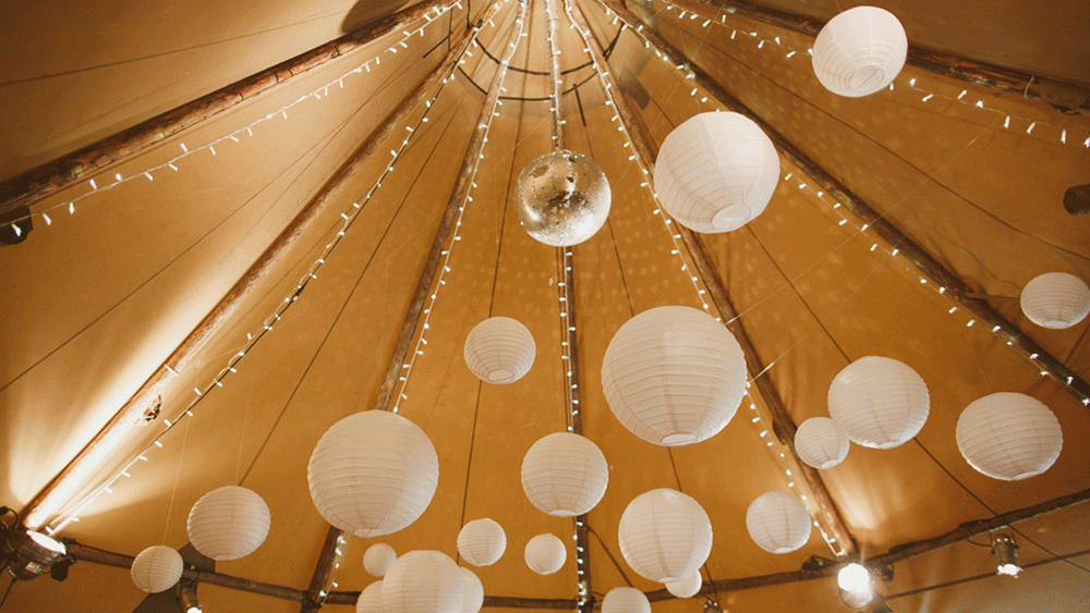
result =
M265 542L271 523L269 507L256 492L223 486L193 505L185 531L193 547L208 557L238 560Z

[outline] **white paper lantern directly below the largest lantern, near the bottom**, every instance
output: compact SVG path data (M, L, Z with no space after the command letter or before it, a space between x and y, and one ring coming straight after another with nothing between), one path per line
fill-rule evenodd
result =
M712 523L700 503L668 488L635 496L617 528L620 553L641 577L668 584L699 572L712 552Z

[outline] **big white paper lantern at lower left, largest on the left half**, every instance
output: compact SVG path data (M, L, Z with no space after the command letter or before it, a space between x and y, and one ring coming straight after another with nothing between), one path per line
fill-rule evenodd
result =
M326 522L358 537L380 537L424 513L439 482L439 458L412 421L366 410L322 436L306 480Z

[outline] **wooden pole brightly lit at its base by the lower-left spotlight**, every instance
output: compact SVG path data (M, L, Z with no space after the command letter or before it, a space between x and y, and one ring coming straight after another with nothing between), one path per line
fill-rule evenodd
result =
M250 266L231 290L211 311L171 352L170 356L144 381L113 417L95 434L83 450L38 492L23 510L27 526L40 528L68 502L75 489L90 478L105 456L116 449L125 433L134 427L144 409L162 393L174 373L182 371L194 356L220 331L234 310L251 295L254 289L282 261L295 242L306 232L366 163L367 159L409 112L426 99L427 94L443 78L449 76L458 65L461 53L469 47L471 37L462 33L459 41L451 47L446 59L432 71L399 105L377 125L367 138L352 152L341 167L311 198L295 218L280 232L265 252Z

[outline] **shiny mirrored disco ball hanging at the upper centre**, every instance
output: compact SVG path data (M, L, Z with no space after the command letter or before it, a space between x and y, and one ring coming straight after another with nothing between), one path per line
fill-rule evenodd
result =
M570 247L590 238L609 216L609 181L581 154L559 150L526 164L514 185L514 210L535 240Z

